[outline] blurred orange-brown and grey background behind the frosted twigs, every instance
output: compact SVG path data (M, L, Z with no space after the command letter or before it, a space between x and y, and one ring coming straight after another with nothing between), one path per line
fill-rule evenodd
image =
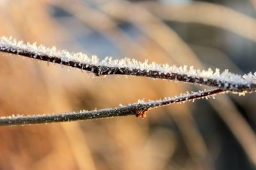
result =
M101 59L255 71L256 1L0 0L0 36ZM111 108L204 89L0 53L0 115ZM109 118L0 128L0 169L255 169L256 94Z

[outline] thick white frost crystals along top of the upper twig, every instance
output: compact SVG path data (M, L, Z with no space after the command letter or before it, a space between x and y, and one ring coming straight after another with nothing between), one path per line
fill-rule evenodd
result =
M252 83L256 83L256 72L254 74L248 73L243 76L239 74L230 73L228 69L225 69L222 73L220 73L220 69L216 68L215 71L212 71L209 68L207 71L199 69L194 69L193 66L169 66L168 64L157 64L156 62L152 62L148 64L148 60L145 62L140 62L136 59L115 59L112 57L106 57L103 60L99 60L97 55L92 55L92 57L88 57L85 53L72 53L67 50L57 50L55 46L51 48L46 47L44 45L36 46L36 43L24 43L23 41L17 41L16 39L10 36L6 38L2 36L0 38L0 49L8 49L10 51L15 50L18 53L22 51L27 51L31 53L35 53L36 55L47 55L49 57L58 57L63 62L74 61L79 62L81 64L92 64L95 66L106 66L106 67L119 67L124 68L127 67L130 70L140 69L146 71L157 71L160 74L167 73L177 73L177 74L186 74L189 77L194 78L204 78L204 81L208 79L221 81L222 83L232 83L236 85L249 85ZM35 57L36 57L35 55Z

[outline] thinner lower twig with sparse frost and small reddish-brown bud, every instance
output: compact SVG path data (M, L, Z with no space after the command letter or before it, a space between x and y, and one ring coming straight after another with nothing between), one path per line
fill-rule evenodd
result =
M221 89L204 90L200 92L192 92L191 94L182 94L175 97L165 97L158 101L138 101L138 103L128 104L128 106L120 106L119 108L109 108L103 110L93 111L79 111L73 113L47 114L47 115L28 115L28 116L10 116L0 117L0 126L7 125L30 125L30 124L48 124L54 122L70 122L76 120L92 120L99 118L122 117L129 115L136 115L136 117L145 117L145 112L166 106L172 103L181 103L200 99L203 97L211 97L215 94L224 93Z

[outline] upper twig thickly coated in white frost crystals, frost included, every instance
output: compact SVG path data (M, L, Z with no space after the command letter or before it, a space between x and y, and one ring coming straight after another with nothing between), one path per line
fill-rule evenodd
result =
M31 57L47 62L67 65L90 71L97 76L109 74L123 74L130 76L147 76L150 78L160 78L166 80L184 81L208 85L230 92L252 92L256 90L256 76L252 73L244 76L233 74L225 70L220 73L219 69L212 71L196 70L193 67L168 66L168 64L148 64L135 59L113 60L106 57L99 60L95 55L89 58L84 53L70 53L66 50L56 50L56 47L47 48L44 45L36 46L36 43L24 44L23 41L2 37L0 38L0 52L14 53L26 57Z

